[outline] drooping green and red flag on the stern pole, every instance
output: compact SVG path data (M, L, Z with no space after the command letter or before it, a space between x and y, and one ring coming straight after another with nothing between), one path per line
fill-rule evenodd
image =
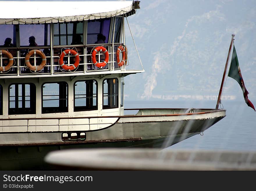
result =
M243 90L243 97L244 97L245 102L247 103L247 105L249 107L253 108L255 111L253 103L248 99L249 92L246 90L244 82L243 82L243 77L242 77L241 70L239 67L235 46L233 48L232 60L230 63L230 69L229 69L228 76L235 79L239 83L240 87Z

